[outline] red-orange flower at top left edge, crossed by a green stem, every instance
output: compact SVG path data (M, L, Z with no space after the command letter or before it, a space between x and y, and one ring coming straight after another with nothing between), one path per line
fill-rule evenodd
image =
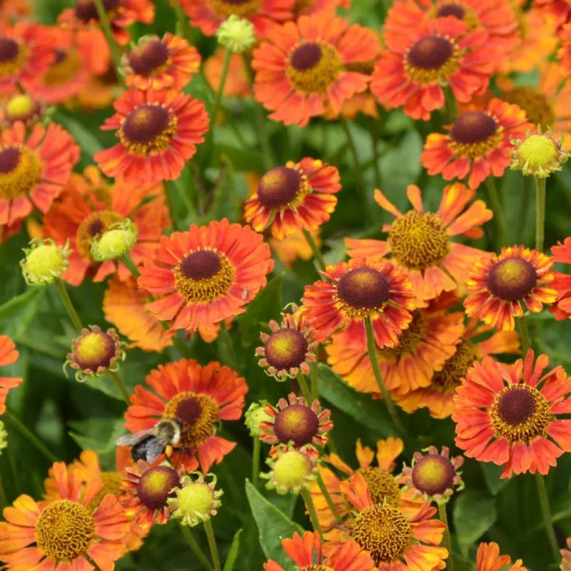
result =
M151 0L103 0L111 32L120 46L126 46L131 39L127 28L135 22L151 24L155 17L155 6ZM74 29L89 29L99 25L99 14L94 0L75 0L74 8L61 12L61 24Z

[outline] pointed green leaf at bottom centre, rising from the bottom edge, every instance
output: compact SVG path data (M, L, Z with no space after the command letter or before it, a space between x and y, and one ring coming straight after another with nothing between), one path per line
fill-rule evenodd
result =
M303 529L297 523L290 521L275 505L268 502L249 480L246 480L246 495L256 525L258 525L260 545L264 554L268 559L276 560L285 571L294 571L297 567L285 555L281 540L291 537L295 532L302 534Z

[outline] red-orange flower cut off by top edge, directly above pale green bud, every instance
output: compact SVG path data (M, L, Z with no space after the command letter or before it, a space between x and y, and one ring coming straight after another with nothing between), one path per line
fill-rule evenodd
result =
M228 16L236 14L252 22L256 36L265 36L272 24L293 17L294 0L181 0L191 26L205 36L213 36Z

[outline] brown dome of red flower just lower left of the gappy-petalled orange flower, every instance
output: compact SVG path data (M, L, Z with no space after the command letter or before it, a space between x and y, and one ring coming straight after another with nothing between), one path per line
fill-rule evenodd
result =
M340 278L337 295L353 308L381 308L390 297L390 285L375 268L355 268Z

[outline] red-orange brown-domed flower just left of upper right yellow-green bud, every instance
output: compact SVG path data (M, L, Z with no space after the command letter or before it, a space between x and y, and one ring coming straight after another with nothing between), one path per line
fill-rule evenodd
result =
M505 173L512 162L510 141L531 127L523 109L493 98L485 108L460 113L447 135L430 133L420 161L430 176L468 177L468 186L477 188L490 174Z

